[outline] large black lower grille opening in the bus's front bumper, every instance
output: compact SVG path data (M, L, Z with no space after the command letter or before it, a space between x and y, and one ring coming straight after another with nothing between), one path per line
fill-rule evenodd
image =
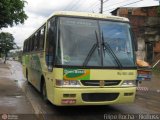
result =
M86 102L113 101L117 99L119 93L83 93L82 99Z

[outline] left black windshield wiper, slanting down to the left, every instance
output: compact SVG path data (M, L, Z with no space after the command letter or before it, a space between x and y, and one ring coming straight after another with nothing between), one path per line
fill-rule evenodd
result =
M100 42L99 42L98 35L97 35L96 31L95 31L95 35L96 35L96 43L93 44L91 50L87 54L87 57L86 57L86 59L83 62L83 66L86 66L88 64L88 62L91 59L91 56L93 55L93 53L96 50L96 48L98 48L98 54L100 55Z

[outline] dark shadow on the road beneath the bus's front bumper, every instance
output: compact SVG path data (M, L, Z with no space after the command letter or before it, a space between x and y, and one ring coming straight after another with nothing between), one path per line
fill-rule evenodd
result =
M100 120L104 119L106 114L118 114L120 111L113 106L55 106L51 103L54 113L45 114L47 120Z

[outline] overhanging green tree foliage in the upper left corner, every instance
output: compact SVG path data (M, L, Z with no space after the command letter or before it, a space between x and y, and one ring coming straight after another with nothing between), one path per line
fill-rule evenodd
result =
M24 0L0 0L0 29L24 23L27 15L23 10Z

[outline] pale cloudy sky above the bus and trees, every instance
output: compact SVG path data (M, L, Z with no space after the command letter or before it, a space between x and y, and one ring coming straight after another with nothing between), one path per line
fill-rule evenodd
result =
M21 48L24 40L31 35L54 11L99 12L100 0L25 0L28 19L24 24L2 28L0 32L10 32ZM104 0L104 14L117 7L156 6L158 0Z

